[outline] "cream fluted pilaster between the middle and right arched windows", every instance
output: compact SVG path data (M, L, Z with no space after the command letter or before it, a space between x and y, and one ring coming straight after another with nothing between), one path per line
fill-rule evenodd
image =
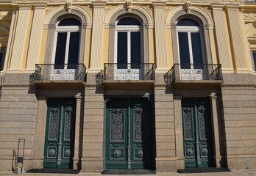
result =
M156 73L168 71L166 51L166 25L165 25L165 3L153 3L154 6L154 35L156 51Z

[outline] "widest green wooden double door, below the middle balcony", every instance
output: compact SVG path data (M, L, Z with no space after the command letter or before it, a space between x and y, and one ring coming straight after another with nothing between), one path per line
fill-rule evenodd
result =
M152 167L152 109L143 99L107 103L106 168Z

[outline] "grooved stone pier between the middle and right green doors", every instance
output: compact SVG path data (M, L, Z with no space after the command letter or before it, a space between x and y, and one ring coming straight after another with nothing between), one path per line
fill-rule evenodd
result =
M154 84L156 170L176 170L174 136L174 103L172 89L165 84Z

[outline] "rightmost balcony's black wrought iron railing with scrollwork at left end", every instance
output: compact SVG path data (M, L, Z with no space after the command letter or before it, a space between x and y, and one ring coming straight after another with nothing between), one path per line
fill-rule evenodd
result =
M164 75L166 84L180 80L223 80L221 65L217 64L174 64Z

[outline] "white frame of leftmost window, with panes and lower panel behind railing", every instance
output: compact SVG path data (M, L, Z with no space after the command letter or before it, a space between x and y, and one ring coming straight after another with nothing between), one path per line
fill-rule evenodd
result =
M65 19L61 21L63 20ZM54 68L51 70L51 79L74 80L78 72L81 25L59 26L61 21L57 22L54 32L51 56L51 64L54 64Z

